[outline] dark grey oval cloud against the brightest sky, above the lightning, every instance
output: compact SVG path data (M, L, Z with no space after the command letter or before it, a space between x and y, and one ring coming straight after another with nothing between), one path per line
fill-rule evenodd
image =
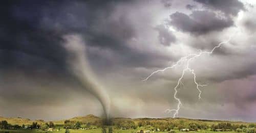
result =
M202 35L212 31L222 31L233 25L231 18L220 18L214 12L193 11L189 16L176 12L170 15L170 24L180 31Z

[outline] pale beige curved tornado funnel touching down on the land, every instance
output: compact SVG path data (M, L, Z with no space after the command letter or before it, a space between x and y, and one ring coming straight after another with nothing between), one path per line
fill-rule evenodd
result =
M79 35L63 36L63 47L68 52L67 64L84 89L93 94L101 103L104 115L109 120L110 97L106 90L97 82L87 60L86 43Z

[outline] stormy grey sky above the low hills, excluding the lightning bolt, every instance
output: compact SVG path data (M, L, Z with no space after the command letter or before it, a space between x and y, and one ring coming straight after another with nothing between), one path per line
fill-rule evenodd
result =
M8 1L0 5L0 116L256 122L253 0Z

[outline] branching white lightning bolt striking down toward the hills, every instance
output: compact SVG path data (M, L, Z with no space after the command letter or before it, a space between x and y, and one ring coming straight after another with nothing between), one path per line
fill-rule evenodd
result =
M234 35L234 34L233 34L233 35ZM175 118L175 117L179 114L180 106L182 105L182 103L181 103L180 98L178 98L176 95L177 95L177 93L178 93L178 90L177 90L177 89L178 89L179 85L183 85L182 79L183 79L184 74L185 74L186 71L189 71L191 74L193 74L193 76L194 76L194 83L195 83L195 85L196 85L196 87L197 87L197 90L198 90L198 92L199 92L199 93L198 93L198 99L201 99L201 93L202 93L202 91L200 90L200 87L204 87L204 86L207 86L207 85L201 85L201 84L199 84L199 83L197 82L197 76L196 76L195 70L194 70L194 69L191 69L191 68L189 67L189 62L192 61L192 60L194 60L194 59L196 59L196 58L198 58L198 57L200 57L200 56L203 55L203 54L208 54L208 55L212 54L212 52L214 52L214 50L215 50L216 48L219 48L219 47L221 47L221 45L228 43L228 42L231 40L231 37L232 37L233 35L229 36L229 39L228 39L227 41L220 42L217 46L215 46L214 48L212 48L210 51L202 51L201 49L199 49L199 51L200 51L199 54L189 54L189 55L187 55L187 56L185 56L185 57L182 57L182 58L180 58L180 60L178 60L178 61L177 61L175 64L173 64L172 66L165 67L164 69L156 70L156 71L152 72L150 75L148 75L146 78L144 78L144 79L142 80L142 81L147 81L148 78L152 77L154 74L156 74L156 73L158 73L158 72L164 72L164 71L167 70L167 69L172 69L172 68L178 66L180 63L185 62L186 65L185 65L184 69L182 70L182 74L181 74L180 78L178 79L177 85L176 85L175 88L174 88L174 90L175 90L174 98L175 98L175 99L177 100L177 102L178 102L177 108L174 109L174 110L169 110L169 109L167 109L167 110L165 111L165 113L172 113L172 112L174 112L173 118ZM183 85L183 86L184 86L184 85Z

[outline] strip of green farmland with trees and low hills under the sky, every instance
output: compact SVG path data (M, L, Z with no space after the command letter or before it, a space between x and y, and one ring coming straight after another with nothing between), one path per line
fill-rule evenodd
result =
M256 132L255 123L186 118L112 118L106 122L103 118L87 115L57 121L0 117L0 122L0 132L186 132L180 131L181 129L189 130L191 133Z

